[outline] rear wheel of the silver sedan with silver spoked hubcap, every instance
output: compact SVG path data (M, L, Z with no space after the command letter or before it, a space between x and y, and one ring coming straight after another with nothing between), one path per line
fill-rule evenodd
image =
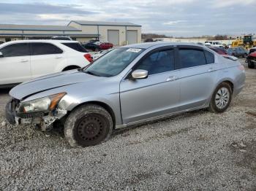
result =
M217 94L219 95L219 91L221 91L221 90L227 90L229 94L228 94L228 98L226 98L226 97L224 98L225 99L224 100L225 104L223 104L223 105L219 104L219 106L218 106L218 104L216 102L221 100L221 98L218 100L217 99ZM220 97L223 97L223 96L220 96ZM225 110L228 108L228 106L230 106L231 99L232 99L232 89L231 89L230 85L227 82L222 82L214 90L214 93L211 97L211 103L210 103L210 106L209 106L209 110L211 112L214 112L214 113L225 112ZM221 106L223 106L223 108Z

